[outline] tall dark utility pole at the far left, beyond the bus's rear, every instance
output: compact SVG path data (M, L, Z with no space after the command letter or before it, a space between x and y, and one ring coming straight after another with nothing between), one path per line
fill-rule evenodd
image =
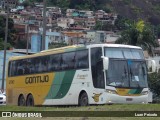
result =
M8 5L8 0L7 5L6 5L6 28L5 28L5 41L4 41L4 58L3 58L3 74L2 74L2 90L4 90L4 80L5 80L5 67L6 67L6 45L7 45L7 37L8 37L8 16L9 16L9 5Z

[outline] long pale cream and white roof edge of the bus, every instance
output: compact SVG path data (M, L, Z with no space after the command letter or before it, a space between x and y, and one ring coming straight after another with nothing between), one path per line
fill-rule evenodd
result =
M17 60L17 59L24 59L24 58L30 58L30 57L38 57L41 55L47 55L52 53L63 53L66 51L74 51L78 49L85 49L85 48L93 48L93 47L120 47L120 48L135 48L135 49L142 49L138 46L131 46L131 45L122 45L122 44L90 44L90 45L72 45L72 46L66 46L66 47L60 47L60 48L54 48L49 50L44 50L39 53L35 53L32 55L26 55L26 56L14 56L11 57L9 60Z

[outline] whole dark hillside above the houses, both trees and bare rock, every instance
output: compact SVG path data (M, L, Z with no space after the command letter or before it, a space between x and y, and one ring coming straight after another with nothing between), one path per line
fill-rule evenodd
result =
M48 0L48 5L62 9L103 9L126 18L141 18L154 25L160 24L160 0Z

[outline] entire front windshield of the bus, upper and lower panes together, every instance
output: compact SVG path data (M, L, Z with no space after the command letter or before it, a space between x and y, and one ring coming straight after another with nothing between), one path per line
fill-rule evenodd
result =
M109 57L107 85L126 88L148 87L147 67L142 50L106 48L105 55Z

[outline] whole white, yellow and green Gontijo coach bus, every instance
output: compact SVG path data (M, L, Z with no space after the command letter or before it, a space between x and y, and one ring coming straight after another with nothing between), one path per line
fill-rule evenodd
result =
M12 57L6 83L11 105L148 103L143 51L129 45L77 45Z

